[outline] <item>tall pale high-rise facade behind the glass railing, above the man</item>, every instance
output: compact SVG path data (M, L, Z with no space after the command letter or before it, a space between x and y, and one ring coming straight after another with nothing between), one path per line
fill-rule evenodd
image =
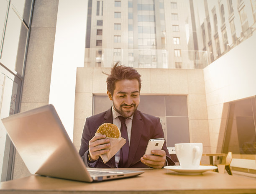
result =
M84 66L202 69L193 12L189 0L89 0Z

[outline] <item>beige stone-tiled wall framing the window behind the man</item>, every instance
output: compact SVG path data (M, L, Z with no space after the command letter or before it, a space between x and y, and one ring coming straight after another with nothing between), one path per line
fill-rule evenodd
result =
M202 142L204 152L210 152L205 82L203 70L192 69L137 69L141 74L141 95L187 95L190 142ZM86 117L92 115L92 95L106 94L104 74L110 68L77 68L74 110L74 138L80 147Z

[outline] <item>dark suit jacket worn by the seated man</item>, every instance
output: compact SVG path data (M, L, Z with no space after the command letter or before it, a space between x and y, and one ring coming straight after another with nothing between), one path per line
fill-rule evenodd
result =
M84 130L82 133L81 147L79 150L80 156L83 158L85 165L87 163L87 153L89 151L89 141L95 136L95 133L100 125L103 123L113 123L113 116L111 108L105 112L93 115L86 119ZM141 157L146 151L149 139L164 138L164 132L158 117L144 114L136 110L133 115L131 142L129 148L129 155L127 161L127 168L149 168L141 162ZM166 141L162 148L166 152L166 160L168 165L174 165L168 149ZM116 168L115 156L113 156L107 163L103 163L99 158L96 163L96 168Z

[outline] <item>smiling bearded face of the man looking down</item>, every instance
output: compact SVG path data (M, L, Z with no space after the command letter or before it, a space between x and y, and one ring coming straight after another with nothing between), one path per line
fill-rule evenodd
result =
M140 103L139 84L137 79L123 79L115 82L113 95L107 91L113 101L113 107L123 117L131 117Z

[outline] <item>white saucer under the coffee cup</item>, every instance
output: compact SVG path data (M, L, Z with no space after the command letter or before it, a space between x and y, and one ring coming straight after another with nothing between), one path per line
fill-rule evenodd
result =
M214 170L217 166L199 166L199 168L181 168L181 166L164 166L164 168L182 174L201 174L206 171Z

